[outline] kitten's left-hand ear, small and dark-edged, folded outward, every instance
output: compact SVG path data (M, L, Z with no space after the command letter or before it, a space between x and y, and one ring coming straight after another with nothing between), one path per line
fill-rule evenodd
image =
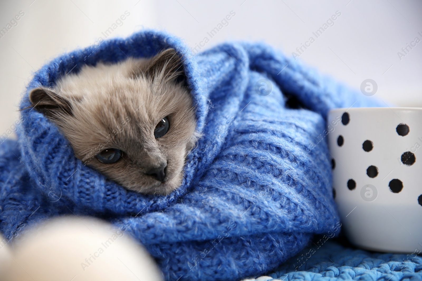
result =
M29 100L35 110L49 118L63 115L73 115L70 102L50 91L48 88L35 88L29 94Z

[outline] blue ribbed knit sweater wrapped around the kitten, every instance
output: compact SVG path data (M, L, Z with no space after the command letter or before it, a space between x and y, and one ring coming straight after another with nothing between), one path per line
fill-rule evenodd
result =
M125 190L84 166L54 124L24 109L29 89L54 87L84 64L166 48L184 54L203 134L181 187L166 197ZM0 231L11 239L22 223L95 216L142 243L166 280L257 276L314 234L338 232L325 118L336 107L378 105L264 44L226 43L193 56L163 32L100 42L52 60L27 86L18 140L0 148Z

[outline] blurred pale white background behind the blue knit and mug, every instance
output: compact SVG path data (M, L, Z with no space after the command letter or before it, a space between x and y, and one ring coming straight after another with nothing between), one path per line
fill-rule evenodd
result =
M20 11L24 16L11 24ZM373 79L375 96L387 103L422 107L422 42L412 49L406 45L415 37L422 40L420 0L1 1L0 29L11 28L0 33L0 134L17 118L32 72L60 53L104 38L102 32L125 11L130 15L110 37L157 28L192 47L204 37L210 41L203 49L225 40L263 40L289 56L299 55L296 48L314 37L298 59L356 89ZM235 16L228 25L212 38L207 35L230 11ZM334 24L318 38L313 35L336 11L341 15Z

